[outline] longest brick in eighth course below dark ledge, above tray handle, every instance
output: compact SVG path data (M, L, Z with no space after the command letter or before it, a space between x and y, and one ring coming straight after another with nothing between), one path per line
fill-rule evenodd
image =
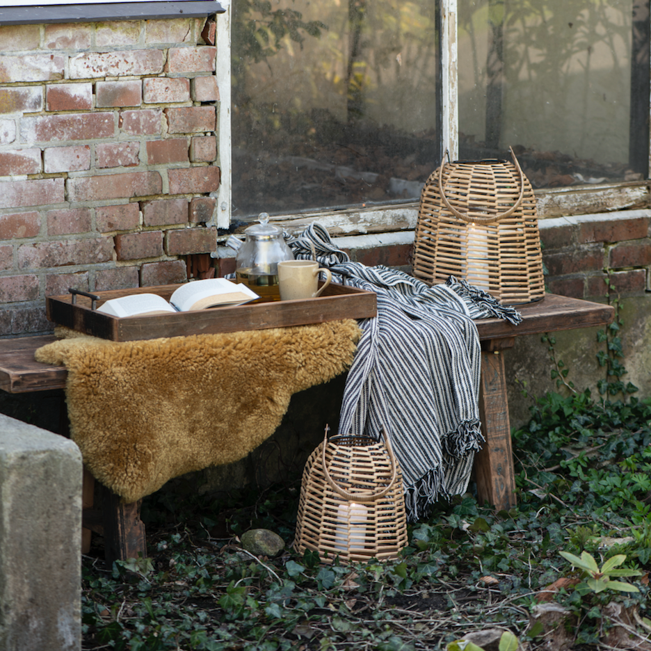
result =
M54 242L23 244L18 248L19 269L67 266L69 264L99 264L113 259L113 239L65 239Z

